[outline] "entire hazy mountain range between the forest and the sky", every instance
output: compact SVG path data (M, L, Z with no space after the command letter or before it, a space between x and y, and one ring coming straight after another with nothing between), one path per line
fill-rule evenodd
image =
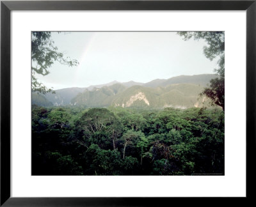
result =
M118 82L89 86L87 88L65 88L32 96L32 104L50 106L73 105L84 107L175 107L186 109L202 107L209 103L206 97L199 97L213 74L180 75L170 79L155 79L147 83ZM42 100L42 102L40 102Z

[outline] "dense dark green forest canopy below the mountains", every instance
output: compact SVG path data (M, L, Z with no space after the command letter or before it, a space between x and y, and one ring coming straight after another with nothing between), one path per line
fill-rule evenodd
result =
M220 109L32 107L33 175L223 173Z

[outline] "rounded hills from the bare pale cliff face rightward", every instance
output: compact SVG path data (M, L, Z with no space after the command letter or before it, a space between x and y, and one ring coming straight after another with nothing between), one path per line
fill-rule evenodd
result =
M175 107L181 109L200 107L206 100L198 96L203 89L202 86L195 84L176 84L155 89L132 86L118 94L112 105L116 107Z

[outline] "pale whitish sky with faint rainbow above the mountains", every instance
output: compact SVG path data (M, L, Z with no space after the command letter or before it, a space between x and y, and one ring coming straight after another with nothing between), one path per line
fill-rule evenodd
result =
M65 56L79 61L74 67L54 63L49 75L36 76L54 89L148 82L214 73L217 67L217 60L204 56L204 41L184 41L176 32L66 32L52 33L52 40Z

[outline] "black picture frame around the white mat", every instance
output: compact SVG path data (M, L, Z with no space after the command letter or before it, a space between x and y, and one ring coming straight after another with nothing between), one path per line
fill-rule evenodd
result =
M10 197L10 12L12 10L246 10L246 197ZM255 195L256 0L250 1L1 1L1 203L2 206L165 206L228 201ZM239 153L239 151L237 151ZM152 189L154 190L154 189ZM156 189L157 190L157 189ZM199 200L200 199L200 200ZM202 202L202 200L207 200ZM221 200L221 201L219 201ZM223 203L222 203L223 204ZM230 203L229 203L230 204Z

